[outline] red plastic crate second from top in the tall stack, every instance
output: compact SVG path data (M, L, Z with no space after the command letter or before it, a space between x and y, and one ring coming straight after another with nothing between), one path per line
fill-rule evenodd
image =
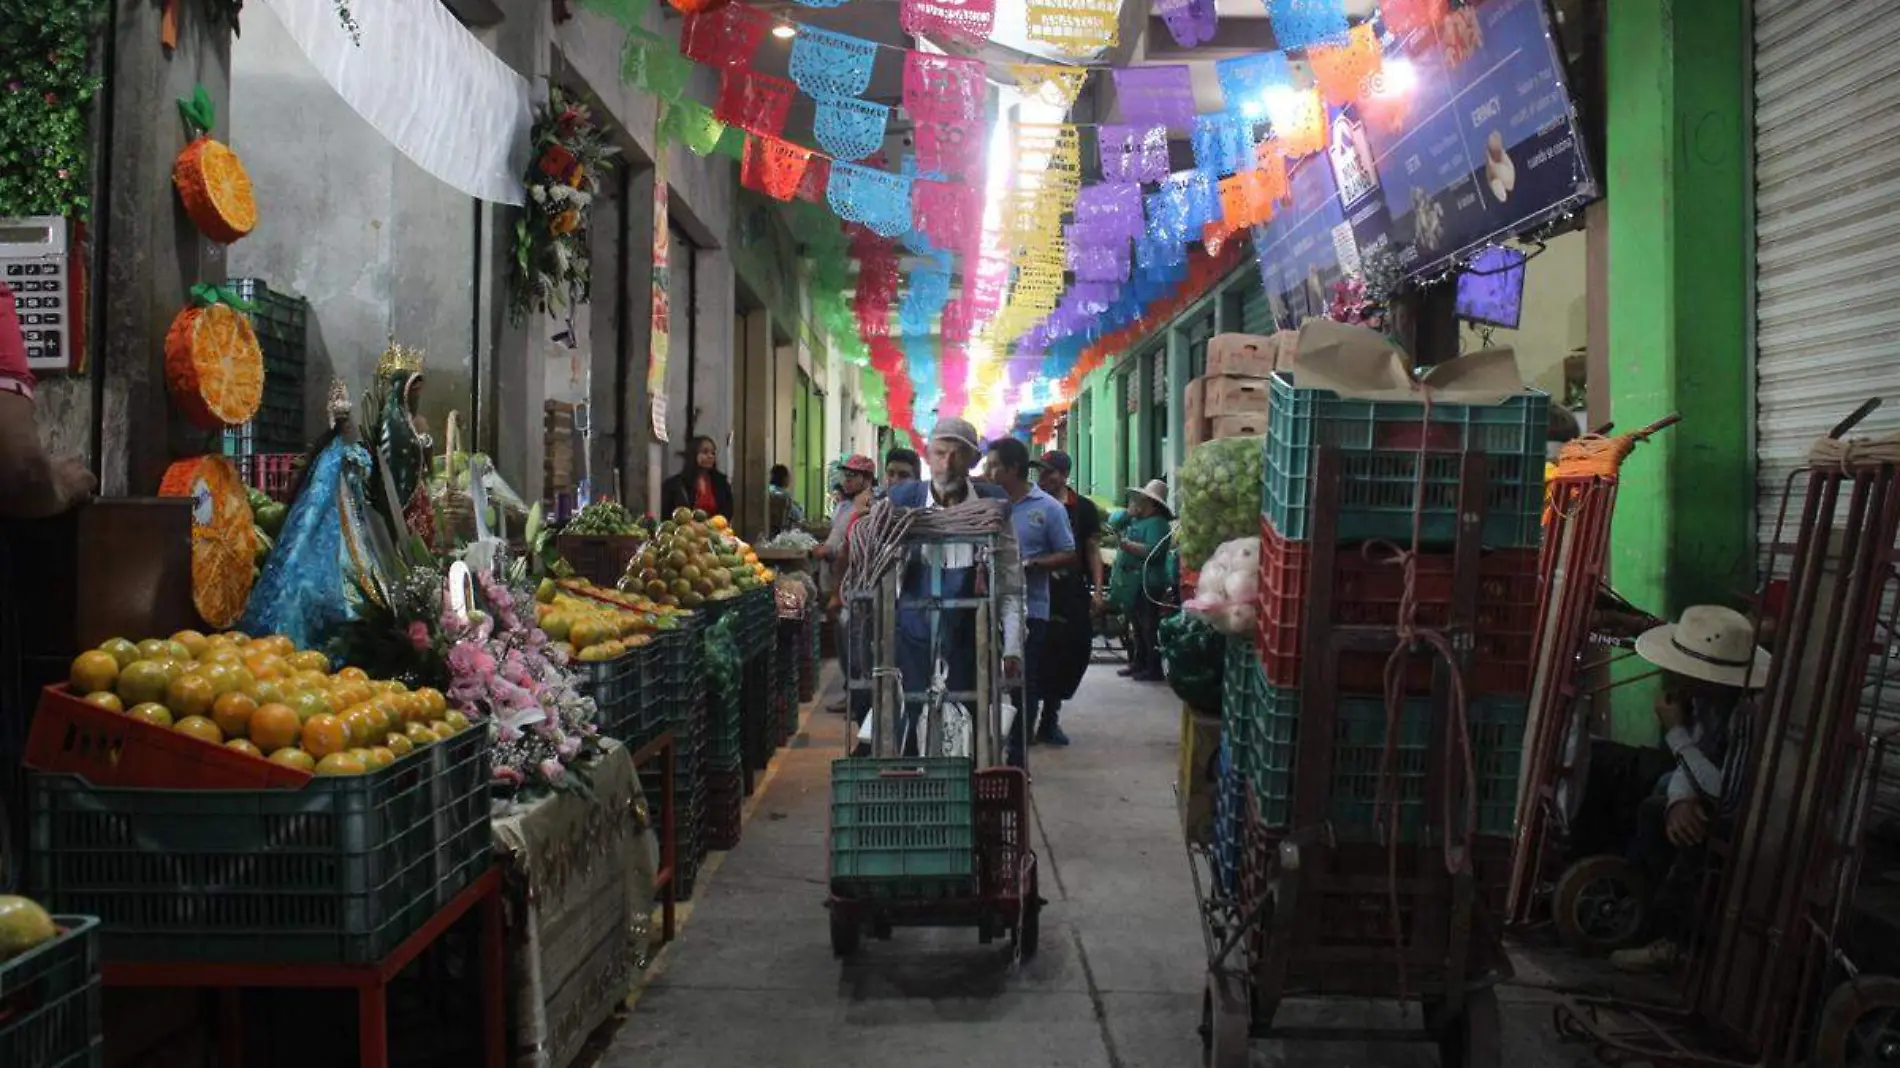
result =
M1260 517L1260 614L1254 648L1273 686L1300 686L1305 650L1305 601L1311 547L1292 542ZM1419 553L1419 627L1444 627L1452 618L1452 553ZM1528 694L1531 684L1531 635L1537 631L1537 549L1493 549L1480 564L1476 646L1467 694ZM1334 616L1341 625L1393 627L1404 599L1404 568L1391 547L1341 545L1334 555ZM1385 686L1383 652L1340 654L1334 678L1341 692L1378 694ZM1431 690L1436 654L1416 650L1406 663L1406 692Z

